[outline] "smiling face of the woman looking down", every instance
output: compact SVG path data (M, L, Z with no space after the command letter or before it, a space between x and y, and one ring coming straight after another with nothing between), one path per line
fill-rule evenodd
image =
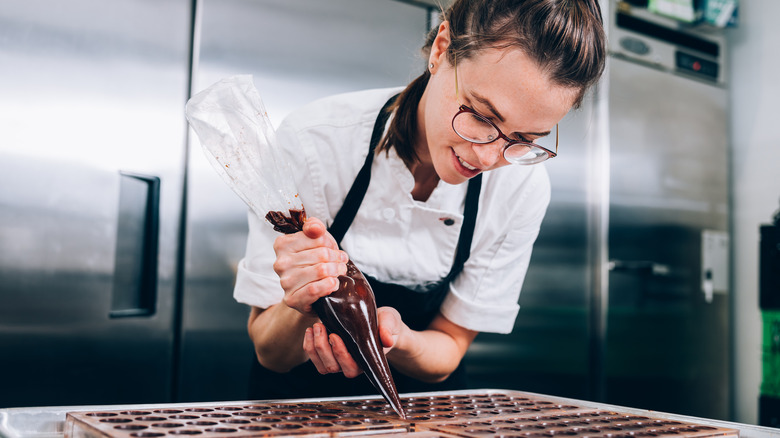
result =
M423 165L431 164L439 178L460 184L482 172L509 165L505 141L474 144L452 129L460 105L487 117L510 138L534 141L550 132L569 112L578 90L550 82L518 49L487 49L457 62L432 54L434 68L420 101L416 151Z

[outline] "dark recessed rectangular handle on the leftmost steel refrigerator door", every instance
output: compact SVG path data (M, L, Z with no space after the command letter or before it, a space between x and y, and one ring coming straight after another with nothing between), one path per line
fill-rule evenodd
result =
M160 178L120 171L111 318L151 316L157 306Z

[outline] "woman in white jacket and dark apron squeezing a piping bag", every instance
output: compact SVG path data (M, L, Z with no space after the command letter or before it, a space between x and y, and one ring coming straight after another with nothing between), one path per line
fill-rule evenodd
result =
M310 219L279 235L250 214L235 296L252 306L252 398L375 392L311 307L347 254L376 295L399 392L464 387L475 336L514 325L550 196L538 163L603 70L601 12L596 0L456 0L424 53L405 89L327 98L277 131ZM546 136L555 148L533 144Z

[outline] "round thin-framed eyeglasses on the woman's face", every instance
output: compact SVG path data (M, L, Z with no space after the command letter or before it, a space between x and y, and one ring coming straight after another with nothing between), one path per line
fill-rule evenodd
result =
M457 62L455 64L455 96L460 103ZM502 154L504 159L512 164L536 164L558 155L557 124L555 125L555 152L536 143L507 137L490 119L463 104L460 105L458 112L452 118L452 129L460 138L475 144L493 143L498 139L506 141Z

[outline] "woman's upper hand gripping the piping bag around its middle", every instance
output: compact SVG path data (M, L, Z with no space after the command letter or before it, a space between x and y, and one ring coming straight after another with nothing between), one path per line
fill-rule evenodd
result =
M338 276L347 273L347 253L317 218L306 219L303 231L279 236L274 251L284 303L305 315L312 315L311 305L338 289Z

